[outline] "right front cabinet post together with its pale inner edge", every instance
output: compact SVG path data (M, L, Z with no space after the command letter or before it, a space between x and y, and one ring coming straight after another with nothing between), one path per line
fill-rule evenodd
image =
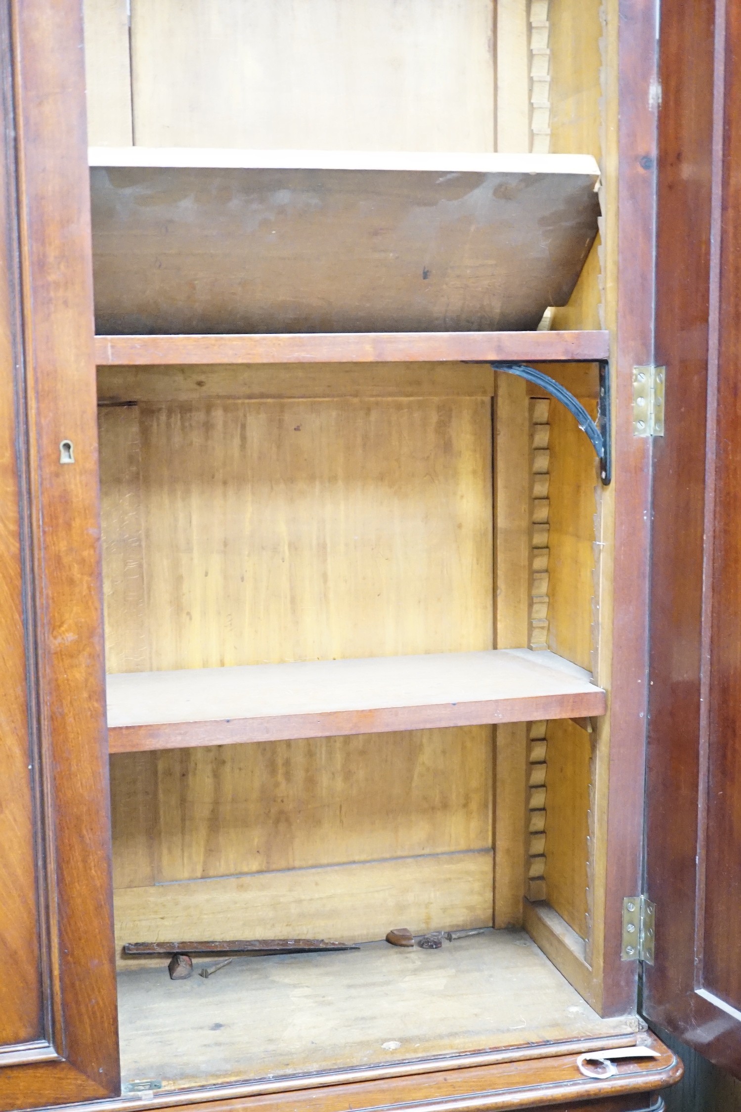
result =
M594 798L595 890L591 966L603 1014L635 1006L635 964L620 961L622 898L640 890L648 667L650 444L632 430L632 368L653 354L655 108L648 89L655 33L648 0L611 2L608 22L605 128L605 322L617 328L613 363L614 469L602 498L598 542L602 583L595 676L611 672L610 722L598 733ZM645 95L635 95L635 90ZM617 147L612 142L617 139ZM614 503L612 502L614 499ZM613 508L614 507L614 508ZM614 532L611 516L614 513ZM611 633L610 633L611 631ZM603 682L600 678L600 682ZM617 825L615 825L617 823Z

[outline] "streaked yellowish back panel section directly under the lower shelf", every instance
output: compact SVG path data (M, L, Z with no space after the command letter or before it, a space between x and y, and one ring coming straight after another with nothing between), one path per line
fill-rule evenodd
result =
M121 754L111 788L117 888L491 846L475 726Z

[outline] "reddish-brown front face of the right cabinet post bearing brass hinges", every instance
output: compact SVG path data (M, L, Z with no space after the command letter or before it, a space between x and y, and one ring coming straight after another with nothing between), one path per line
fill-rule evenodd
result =
M638 963L622 962L624 896L640 891L648 708L651 443L632 429L632 369L653 357L657 109L654 0L620 0L615 534L603 1014L635 1007ZM609 180L609 176L608 176ZM599 853L599 847L598 847Z

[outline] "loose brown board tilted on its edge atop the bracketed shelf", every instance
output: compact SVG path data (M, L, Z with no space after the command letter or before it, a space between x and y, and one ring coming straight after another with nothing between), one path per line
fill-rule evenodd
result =
M581 155L91 150L97 330L535 329L597 235Z

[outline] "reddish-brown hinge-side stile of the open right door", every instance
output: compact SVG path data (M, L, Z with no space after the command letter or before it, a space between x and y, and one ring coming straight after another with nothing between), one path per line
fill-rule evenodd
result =
M662 911L644 1011L690 1040L711 1012L694 994L694 935L714 16L714 0L698 0L691 13L664 11L661 28L657 358L668 389L654 446L647 891Z

